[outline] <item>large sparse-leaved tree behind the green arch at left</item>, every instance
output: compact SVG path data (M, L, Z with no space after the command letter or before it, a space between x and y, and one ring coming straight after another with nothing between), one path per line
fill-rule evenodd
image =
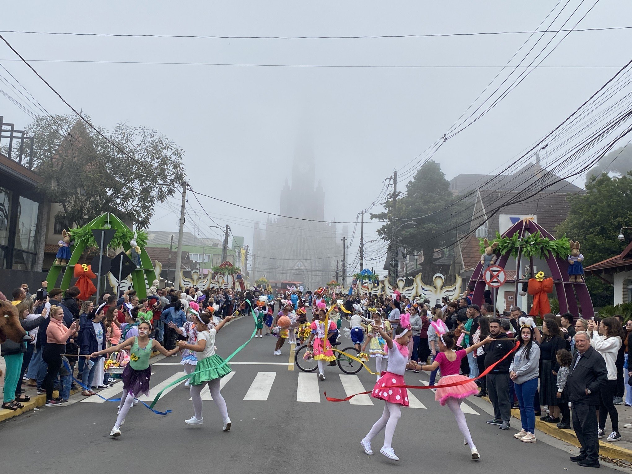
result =
M35 137L33 171L44 178L40 190L61 204L69 225L111 212L147 228L155 203L185 180L183 150L144 126L99 130L118 147L74 116L39 116L27 130Z

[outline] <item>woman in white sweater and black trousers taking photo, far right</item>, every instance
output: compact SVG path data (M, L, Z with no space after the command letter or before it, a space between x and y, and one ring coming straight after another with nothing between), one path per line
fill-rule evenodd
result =
M597 330L598 328L599 331ZM612 433L607 437L606 441L619 441L621 440L619 414L612 400L617 389L617 367L615 362L622 344L621 325L614 318L606 318L600 323L590 320L588 322L588 332L592 334L590 344L602 355L608 370L608 382L599 391L599 439L605 436L605 420L610 415Z

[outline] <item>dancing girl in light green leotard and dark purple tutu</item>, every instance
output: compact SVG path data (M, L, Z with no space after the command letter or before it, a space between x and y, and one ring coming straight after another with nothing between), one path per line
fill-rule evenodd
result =
M138 336L126 339L124 343L118 346L112 346L109 349L94 352L90 357L100 357L102 355L118 352L122 349L130 348L130 363L123 370L123 395L121 396L121 408L118 411L118 418L114 423L114 428L110 432L110 436L117 437L121 435L121 425L125 423L125 415L130 411L134 398L140 394L149 395L149 377L152 374L152 368L149 366L149 358L152 351L158 351L167 357L175 354L180 350L179 347L171 351L167 351L162 347L161 343L155 339L149 339L152 332L150 322L143 321L138 324Z

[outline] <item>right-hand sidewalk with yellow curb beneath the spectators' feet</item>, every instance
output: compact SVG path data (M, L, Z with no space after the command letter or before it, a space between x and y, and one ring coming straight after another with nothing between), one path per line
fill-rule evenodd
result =
M483 397L484 400L491 403L487 396ZM632 406L615 405L619 412L619 432L621 433L621 441L614 443L599 440L599 454L600 456L606 456L607 458L620 459L626 461L626 463L632 463L632 429L624 428L624 423L632 423ZM544 412L542 413L544 415ZM511 416L520 420L520 410L513 408L511 410ZM514 423L514 428L520 428L520 425ZM574 430L561 430L556 427L556 423L547 423L540 421L540 417L535 417L535 428L557 438L561 441L573 444L573 446L580 447L580 442L575 435ZM606 435L609 435L612 430L610 417L605 423Z

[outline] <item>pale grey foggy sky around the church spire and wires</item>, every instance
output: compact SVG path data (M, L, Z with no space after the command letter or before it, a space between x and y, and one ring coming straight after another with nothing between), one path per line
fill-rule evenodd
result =
M3 5L0 29L247 36L533 30L556 3L22 1ZM573 8L578 3L571 0ZM593 3L585 2L580 11ZM602 0L578 28L628 26L631 14L629 2ZM27 59L427 66L502 66L526 40L526 35L227 40L3 34ZM574 32L542 65L621 67L630 59L626 45L631 39L630 30ZM70 112L25 65L6 59L15 56L0 45L0 63L49 112ZM355 220L356 212L377 197L382 180L441 137L499 71L32 64L97 125L112 128L126 121L174 140L186 151L194 189L257 209L279 212L279 190L291 173L296 137L307 129L317 178L327 193L325 216L336 221ZM485 118L449 140L434 159L448 179L458 173L486 173L554 128L615 71L538 68ZM0 114L18 127L30 122L4 97ZM398 187L403 189L404 183ZM252 244L252 221L266 219L265 214L200 199L220 226L228 222L246 243ZM151 229L177 230L178 216L171 211L177 211L179 196L171 201L176 204L157 207ZM199 208L192 196L189 205ZM217 236L217 229L208 227L213 222L197 215L202 216L200 234ZM367 241L375 238L378 225L367 224ZM189 219L186 230L193 229ZM352 257L357 242L358 235Z

